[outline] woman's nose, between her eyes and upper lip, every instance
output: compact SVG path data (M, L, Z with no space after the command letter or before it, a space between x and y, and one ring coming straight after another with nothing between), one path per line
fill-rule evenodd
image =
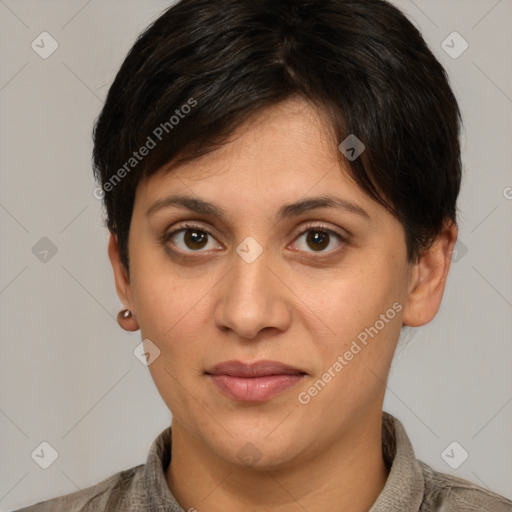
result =
M267 251L250 263L234 254L233 267L217 288L214 318L219 329L253 340L263 330L289 327L291 294L270 259Z

